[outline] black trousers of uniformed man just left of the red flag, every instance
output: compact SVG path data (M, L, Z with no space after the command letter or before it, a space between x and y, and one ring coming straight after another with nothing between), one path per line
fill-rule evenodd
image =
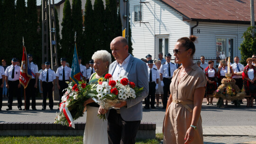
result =
M8 84L9 84L8 108L12 108L12 102L13 102L14 96L17 96L18 108L21 108L22 106L22 99L21 99L21 95L19 94L18 83L19 83L19 80L8 81Z

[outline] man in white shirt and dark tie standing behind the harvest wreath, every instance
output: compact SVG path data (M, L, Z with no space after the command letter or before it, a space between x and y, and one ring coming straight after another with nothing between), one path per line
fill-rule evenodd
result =
M234 62L233 64L231 64L231 67L234 71L234 75L232 76L232 78L234 80L236 80L236 85L238 86L238 88L240 90L242 90L243 88L243 79L242 79L242 73L244 70L244 65L239 63L239 57L235 56L234 57ZM234 102L232 101L231 104L233 104ZM243 101L240 100L240 103L243 104Z

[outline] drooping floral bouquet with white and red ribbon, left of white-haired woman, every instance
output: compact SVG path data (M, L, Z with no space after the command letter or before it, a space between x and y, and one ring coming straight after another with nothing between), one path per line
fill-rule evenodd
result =
M90 98L91 85L86 85L85 81L79 81L79 84L67 82L68 88L62 97L59 112L56 112L55 124L62 124L72 126L74 128L73 120L83 116L83 103ZM73 85L73 87L72 87Z

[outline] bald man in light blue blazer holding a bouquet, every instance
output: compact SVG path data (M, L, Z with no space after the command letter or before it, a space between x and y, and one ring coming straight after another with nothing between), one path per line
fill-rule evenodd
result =
M115 62L110 64L109 73L112 80L119 76L127 76L129 81L138 88L143 87L140 97L128 99L110 109L107 113L109 144L135 144L136 134L142 119L142 100L148 94L148 72L146 63L128 53L128 42L122 37L116 37L110 43ZM105 114L104 109L99 113Z

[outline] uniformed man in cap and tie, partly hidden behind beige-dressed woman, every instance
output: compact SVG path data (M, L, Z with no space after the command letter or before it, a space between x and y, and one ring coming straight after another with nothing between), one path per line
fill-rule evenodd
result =
M172 82L174 71L177 69L174 63L171 63L171 54L165 54L166 62L160 67L160 79L161 86L164 87L164 99L163 99L163 109L166 109L167 105L167 95L170 93L170 84Z

